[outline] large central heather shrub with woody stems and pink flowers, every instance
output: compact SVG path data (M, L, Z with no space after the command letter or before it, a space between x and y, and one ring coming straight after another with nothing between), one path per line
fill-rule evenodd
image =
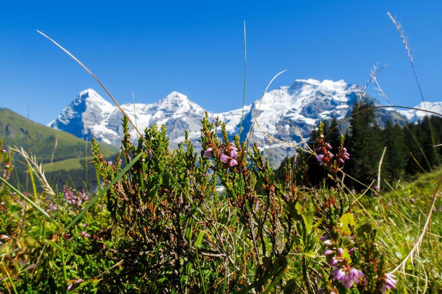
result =
M122 260L112 278L100 282L108 289L122 290L116 281L162 293L385 293L396 287L377 231L369 223L357 225L343 197L339 166L350 156L343 136L333 151L319 125L316 159L335 189L317 190L307 176L304 150L293 168L289 160L285 181L278 183L256 144L247 152L245 142L229 141L224 124L210 123L207 115L200 154L187 134L186 148L168 149L164 126L145 129L137 146L127 119L123 128L114 163L93 141L93 163L105 185L120 172L121 158L129 163L141 153L106 193L108 225L115 228L106 234L118 239L99 250ZM257 183L263 194L256 193Z

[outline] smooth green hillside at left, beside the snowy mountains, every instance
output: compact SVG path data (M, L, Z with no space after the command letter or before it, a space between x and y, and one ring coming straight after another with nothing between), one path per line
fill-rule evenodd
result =
M0 108L0 139L4 147L23 147L27 153L35 154L38 161L42 160L42 167L52 184L68 181L79 186L84 186L86 182L88 187L95 185L95 171L91 164L88 164L88 173L85 173L86 152L88 161L92 158L91 142L86 145L86 141L72 134L35 123L7 108ZM51 164L56 139L57 148ZM103 156L113 160L119 149L101 143L100 150ZM12 180L16 185L23 184L26 182L27 167L20 164L23 162L21 156L14 157L17 174Z

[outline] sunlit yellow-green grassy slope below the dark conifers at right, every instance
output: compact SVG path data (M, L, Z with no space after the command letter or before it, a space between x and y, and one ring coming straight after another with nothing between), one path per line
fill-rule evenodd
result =
M369 192L355 203L353 212L359 225L374 220L377 240L387 253L389 264L400 262L414 246L430 209L436 187L434 182L441 176L441 168L436 167L434 174L416 175L409 182L401 182L397 188L392 189L384 182L383 191L378 192L378 195ZM428 234L423 238L419 255L414 256L414 266L408 259L405 275L408 283L405 285L409 291L415 291L416 286L419 291L423 291L426 287L425 276L430 282L430 286L427 285L429 293L440 293L438 291L442 289L441 196L442 191L438 191ZM401 293L406 292L402 290Z

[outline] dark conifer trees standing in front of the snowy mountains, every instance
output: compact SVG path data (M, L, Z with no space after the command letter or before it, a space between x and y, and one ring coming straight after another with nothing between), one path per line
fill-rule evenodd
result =
M377 124L376 110L361 110L371 108L373 104L368 100L356 102L352 108L353 116L349 119L345 130L338 125L334 117L324 121L324 136L333 149L339 145L341 132L345 135L344 145L350 153L346 160L343 172L344 183L347 187L356 190L364 189L375 180L377 185L378 168L385 149L381 164L381 184L384 179L395 184L403 179L409 179L419 172L431 172L442 161L442 117L426 116L417 123L392 123L387 121L384 127ZM356 112L358 112L356 114ZM308 145L315 149L313 141L318 137L318 129L314 128L308 140ZM435 146L435 147L434 147ZM307 156L308 157L308 156ZM296 159L292 158L292 163ZM276 174L283 177L284 162ZM319 165L316 156L310 156L309 177L313 184L325 183L331 185L327 172ZM373 186L374 186L373 185ZM385 184L384 184L385 186Z

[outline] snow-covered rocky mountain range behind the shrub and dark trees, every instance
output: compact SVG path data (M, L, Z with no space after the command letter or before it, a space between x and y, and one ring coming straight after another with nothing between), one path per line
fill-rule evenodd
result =
M362 93L361 86L348 85L343 80L337 82L295 80L291 86L282 86L265 93L262 101L259 98L244 107L241 139L246 138L259 109L257 116L259 126L254 127L252 142L257 142L261 149L266 150L266 156L270 157L277 166L286 156L293 155L294 150L282 148L277 144L270 145L263 131L278 140L297 144L302 138L309 137L313 126L320 120L331 119L333 116L342 119L347 116L354 101L360 99ZM377 100L370 97L369 99L374 104L380 105ZM442 108L442 103L438 105ZM184 140L184 130L189 132L189 138L193 141L195 149L201 148L198 139L205 109L181 93L172 92L153 104L123 104L122 109L133 122L136 120L139 130L144 130L154 123L164 124L172 148ZM226 130L230 136L238 134L242 109L208 113L212 119L218 116L226 123ZM392 109L383 108L377 112L378 122L382 125L388 119L398 121L399 113L410 120L420 115L420 113L394 112ZM119 146L123 132L121 118L122 113L116 106L104 100L93 89L87 89L81 92L48 126L67 131L79 138L87 137L90 140L94 137L98 141ZM130 133L137 138L135 130L131 127Z

